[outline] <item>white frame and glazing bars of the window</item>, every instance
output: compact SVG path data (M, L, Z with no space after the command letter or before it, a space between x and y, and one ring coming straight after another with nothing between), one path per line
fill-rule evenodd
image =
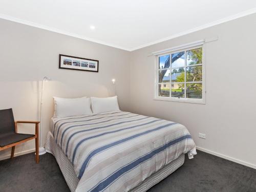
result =
M171 87L172 87L172 84L171 84L171 80L170 80L170 96L169 97L161 97L161 96L158 96L158 85L159 85L159 79L158 79L158 75L159 75L159 57L160 56L163 56L163 55L170 55L170 59L171 59L171 56L173 53L177 53L177 52L182 52L182 51L188 51L188 50L193 50L193 49L197 49L197 48L202 48L202 51L203 51L203 58L202 58L202 99L196 99L196 98L178 98L178 97L172 97L171 96ZM204 49L204 40L200 40L200 41L195 41L195 42L191 42L190 44L185 44L185 45L182 45L182 46L177 46L177 47L174 47L174 48L169 48L169 49L165 49L165 50L162 50L162 51L157 51L157 52L153 52L152 53L153 55L156 56L156 65L155 65L155 83L154 83L154 100L162 100L162 101L176 101L176 102L188 102L188 103L199 103L199 104L205 104L205 96L206 96L206 88L205 88L205 80L206 80L206 77L205 77L205 68L206 68L206 65L205 65L205 49ZM186 53L185 53L185 59L186 59ZM170 70L170 73L172 73L172 63L171 63L171 60L170 60L170 66L169 68L167 68L168 70ZM197 66L197 65L193 65L193 66ZM185 66L183 66L185 69L186 67L190 67L190 66L186 66L186 63L185 63ZM179 68L183 68L183 67L179 67ZM171 79L171 78L170 78ZM185 77L185 82L184 83L189 83L189 82L186 82L186 77ZM196 83L196 81L194 82ZM201 83L201 81L200 81ZM166 83L163 83L163 84L166 84ZM185 89L185 93L186 95L186 89Z

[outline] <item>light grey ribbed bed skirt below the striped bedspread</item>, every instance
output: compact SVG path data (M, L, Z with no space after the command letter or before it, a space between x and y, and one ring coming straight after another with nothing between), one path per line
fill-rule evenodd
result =
M46 140L46 152L51 153L72 192L75 192L78 185L79 179L76 177L74 167L68 157L62 152L61 148L55 142L55 139L51 132L47 134ZM150 189L155 184L159 183L161 180L166 178L168 175L175 172L181 165L183 165L185 155L182 154L177 159L171 161L169 164L161 168L157 173L145 179L140 185L130 190L131 192L144 192Z

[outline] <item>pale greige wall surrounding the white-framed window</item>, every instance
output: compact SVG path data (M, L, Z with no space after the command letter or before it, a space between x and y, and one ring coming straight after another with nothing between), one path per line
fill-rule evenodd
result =
M132 112L184 124L197 146L256 167L256 14L132 52ZM187 21L189 22L189 20ZM191 21L190 21L191 22ZM153 26L154 27L154 26ZM151 52L204 38L206 104L154 98L155 57ZM198 133L207 139L200 139Z

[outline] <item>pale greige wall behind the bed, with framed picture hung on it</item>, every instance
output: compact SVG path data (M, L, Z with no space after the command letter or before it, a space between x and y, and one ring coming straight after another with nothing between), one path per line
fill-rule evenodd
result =
M15 120L38 120L41 80L52 78L45 87L45 143L53 115L53 96L112 96L116 79L120 109L127 111L130 93L130 67L127 51L49 32L0 19L0 109L13 108ZM99 73L58 69L59 54L99 60ZM33 126L22 126L34 133ZM15 152L34 149L34 140L18 145ZM0 159L10 150L0 152Z

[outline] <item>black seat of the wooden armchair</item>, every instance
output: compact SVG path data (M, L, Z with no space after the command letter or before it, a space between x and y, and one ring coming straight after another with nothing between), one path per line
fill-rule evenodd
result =
M0 135L0 147L16 143L18 141L22 141L24 139L28 139L30 137L34 137L32 134L21 134L21 133L13 133L9 132L6 134Z

